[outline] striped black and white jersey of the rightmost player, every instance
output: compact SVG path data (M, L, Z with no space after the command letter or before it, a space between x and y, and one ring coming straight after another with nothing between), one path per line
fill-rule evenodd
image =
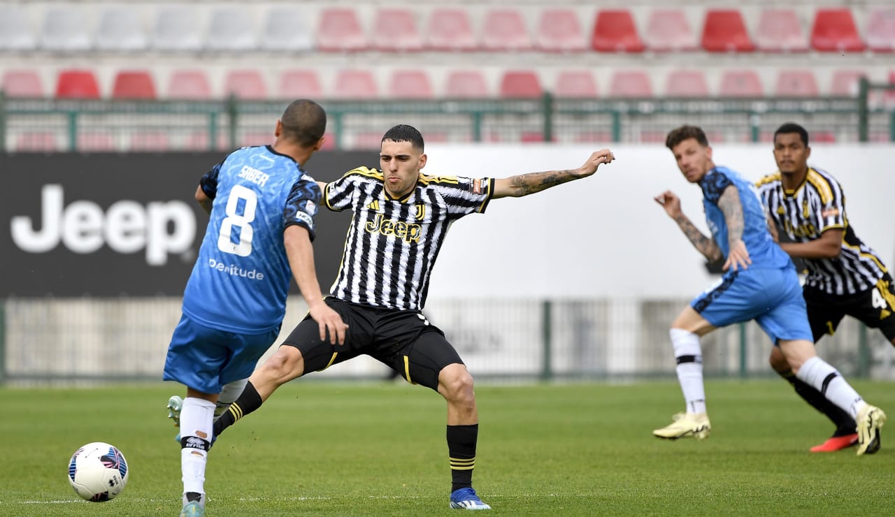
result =
M778 171L758 183L779 232L792 242L809 242L833 228L845 231L836 259L802 259L808 270L805 284L830 294L854 294L873 288L886 273L879 256L857 238L848 224L845 194L829 173L809 167L805 181L794 191L783 189Z

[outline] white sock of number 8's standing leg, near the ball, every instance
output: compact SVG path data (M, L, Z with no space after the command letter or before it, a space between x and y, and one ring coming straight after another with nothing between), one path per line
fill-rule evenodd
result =
M180 411L180 436L186 445L181 445L180 470L183 475L184 494L187 492L205 494L205 464L208 461L214 415L214 403L196 397L183 399L183 409Z

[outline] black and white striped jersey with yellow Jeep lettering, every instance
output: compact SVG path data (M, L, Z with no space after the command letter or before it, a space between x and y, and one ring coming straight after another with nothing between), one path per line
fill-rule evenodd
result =
M422 309L448 227L484 212L493 191L491 178L420 174L413 191L391 199L382 173L367 167L328 183L327 207L354 212L330 294L375 307Z

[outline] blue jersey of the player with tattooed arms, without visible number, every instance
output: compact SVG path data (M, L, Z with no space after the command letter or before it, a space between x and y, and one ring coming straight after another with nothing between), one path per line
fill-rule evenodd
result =
M780 249L768 230L768 219L764 211L762 199L753 182L747 182L739 174L727 167L715 167L700 180L703 189L703 207L705 220L726 259L730 252L728 227L724 213L718 208L718 199L724 189L733 185L739 192L739 200L743 205L743 243L749 252L752 264L749 267L772 268L792 266L792 260ZM795 267L795 266L793 266Z

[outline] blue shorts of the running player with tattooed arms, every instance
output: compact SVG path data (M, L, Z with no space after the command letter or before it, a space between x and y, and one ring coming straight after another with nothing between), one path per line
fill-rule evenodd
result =
M691 301L690 307L717 327L754 319L774 344L780 339L814 342L793 267L729 271Z

